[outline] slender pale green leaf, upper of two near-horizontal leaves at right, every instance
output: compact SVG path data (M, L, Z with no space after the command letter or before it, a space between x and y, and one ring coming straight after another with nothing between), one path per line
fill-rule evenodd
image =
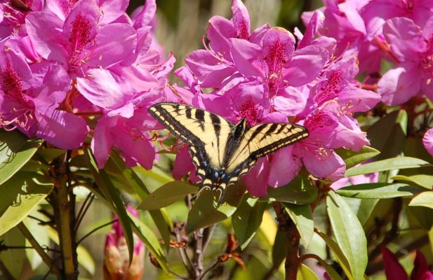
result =
M417 168L429 165L425 160L419 158L397 157L389 158L387 160L379 160L377 162L366 163L346 170L345 176L355 176L361 174L368 174L373 172L381 172L394 169Z

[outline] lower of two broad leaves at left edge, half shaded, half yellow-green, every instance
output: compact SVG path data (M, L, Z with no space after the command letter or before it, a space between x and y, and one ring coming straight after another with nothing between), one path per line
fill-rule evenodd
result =
M11 180L11 184L9 181L6 183L6 188L11 189L13 183L17 183L11 195L15 196L14 203L7 204L10 206L0 217L0 235L18 225L53 189L53 183L41 174L19 172ZM5 196L9 197L10 194Z

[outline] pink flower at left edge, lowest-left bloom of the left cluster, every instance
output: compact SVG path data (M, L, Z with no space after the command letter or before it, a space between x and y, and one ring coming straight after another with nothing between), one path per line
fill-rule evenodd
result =
M4 46L3 46L4 48ZM64 149L78 148L88 127L84 119L58 110L70 87L62 67L38 64L30 69L13 50L0 54L0 125L18 129Z

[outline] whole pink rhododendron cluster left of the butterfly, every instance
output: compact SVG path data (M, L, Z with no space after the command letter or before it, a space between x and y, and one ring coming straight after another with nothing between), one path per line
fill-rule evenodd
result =
M155 1L131 17L128 1L17 3L0 5L1 127L64 149L91 131L99 167L118 148L126 165L151 168L157 126L146 109L175 62L154 39Z

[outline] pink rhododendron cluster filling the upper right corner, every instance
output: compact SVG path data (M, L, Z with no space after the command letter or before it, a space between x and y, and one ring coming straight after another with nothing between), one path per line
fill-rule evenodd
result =
M357 55L365 81L382 102L398 105L417 94L433 97L433 6L428 0L325 1L317 34L337 40L338 55ZM302 19L308 22L312 12ZM387 60L392 69L381 69ZM380 76L381 71L385 71ZM378 80L379 79L379 80Z

